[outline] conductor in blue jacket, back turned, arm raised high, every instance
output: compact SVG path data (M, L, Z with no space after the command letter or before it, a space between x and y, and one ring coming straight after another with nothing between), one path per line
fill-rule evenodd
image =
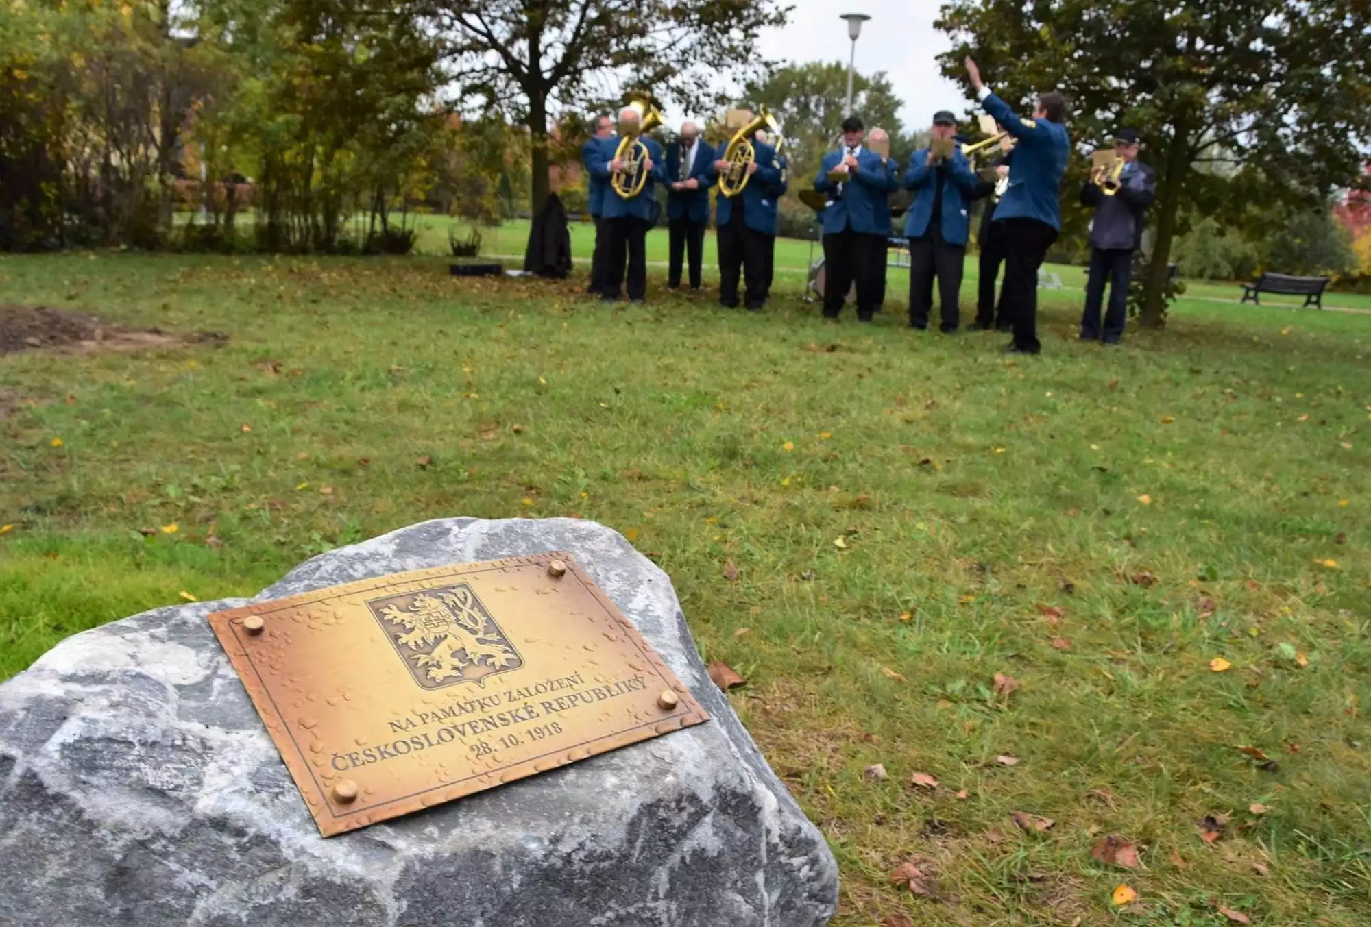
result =
M1009 188L995 207L995 225L1005 234L1005 313L1013 324L1015 340L1005 351L1038 354L1038 269L1047 248L1061 230L1061 176L1071 156L1071 139L1063 125L1067 99L1056 91L1039 93L1032 118L1021 118L995 96L976 62L967 59L967 75L986 112L1015 137L1015 158L1009 167Z

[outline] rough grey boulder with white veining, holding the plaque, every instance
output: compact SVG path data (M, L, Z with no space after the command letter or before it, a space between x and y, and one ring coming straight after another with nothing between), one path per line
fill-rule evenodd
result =
M810 927L838 867L710 683L670 580L588 521L429 521L258 599L572 551L713 716L321 838L206 616L70 638L0 684L0 924Z

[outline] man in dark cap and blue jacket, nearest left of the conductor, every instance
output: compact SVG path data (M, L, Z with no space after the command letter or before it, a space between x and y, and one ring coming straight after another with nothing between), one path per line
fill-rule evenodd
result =
M968 208L976 192L976 176L961 154L954 136L957 118L941 110L934 114L932 139L945 154L921 148L909 159L905 188L914 191L914 203L905 219L909 239L909 326L928 328L930 282L938 278L939 329L951 335L961 325L957 300L961 296L962 265L971 234Z

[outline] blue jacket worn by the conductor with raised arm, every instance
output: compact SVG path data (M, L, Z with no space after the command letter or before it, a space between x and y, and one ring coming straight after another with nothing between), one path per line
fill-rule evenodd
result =
M1009 165L1009 189L999 197L995 221L1038 219L1061 230L1061 176L1071 158L1071 137L1065 126L1047 119L1021 119L994 93L980 106L1017 143Z

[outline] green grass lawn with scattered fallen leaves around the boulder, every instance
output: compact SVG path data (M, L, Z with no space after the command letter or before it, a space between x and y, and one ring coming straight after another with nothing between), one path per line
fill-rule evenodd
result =
M747 677L839 927L1371 923L1371 318L1187 299L1102 351L1063 291L1008 358L821 322L803 251L761 315L659 269L610 309L440 258L0 256L0 303L229 336L0 358L0 675L424 518L579 516Z

